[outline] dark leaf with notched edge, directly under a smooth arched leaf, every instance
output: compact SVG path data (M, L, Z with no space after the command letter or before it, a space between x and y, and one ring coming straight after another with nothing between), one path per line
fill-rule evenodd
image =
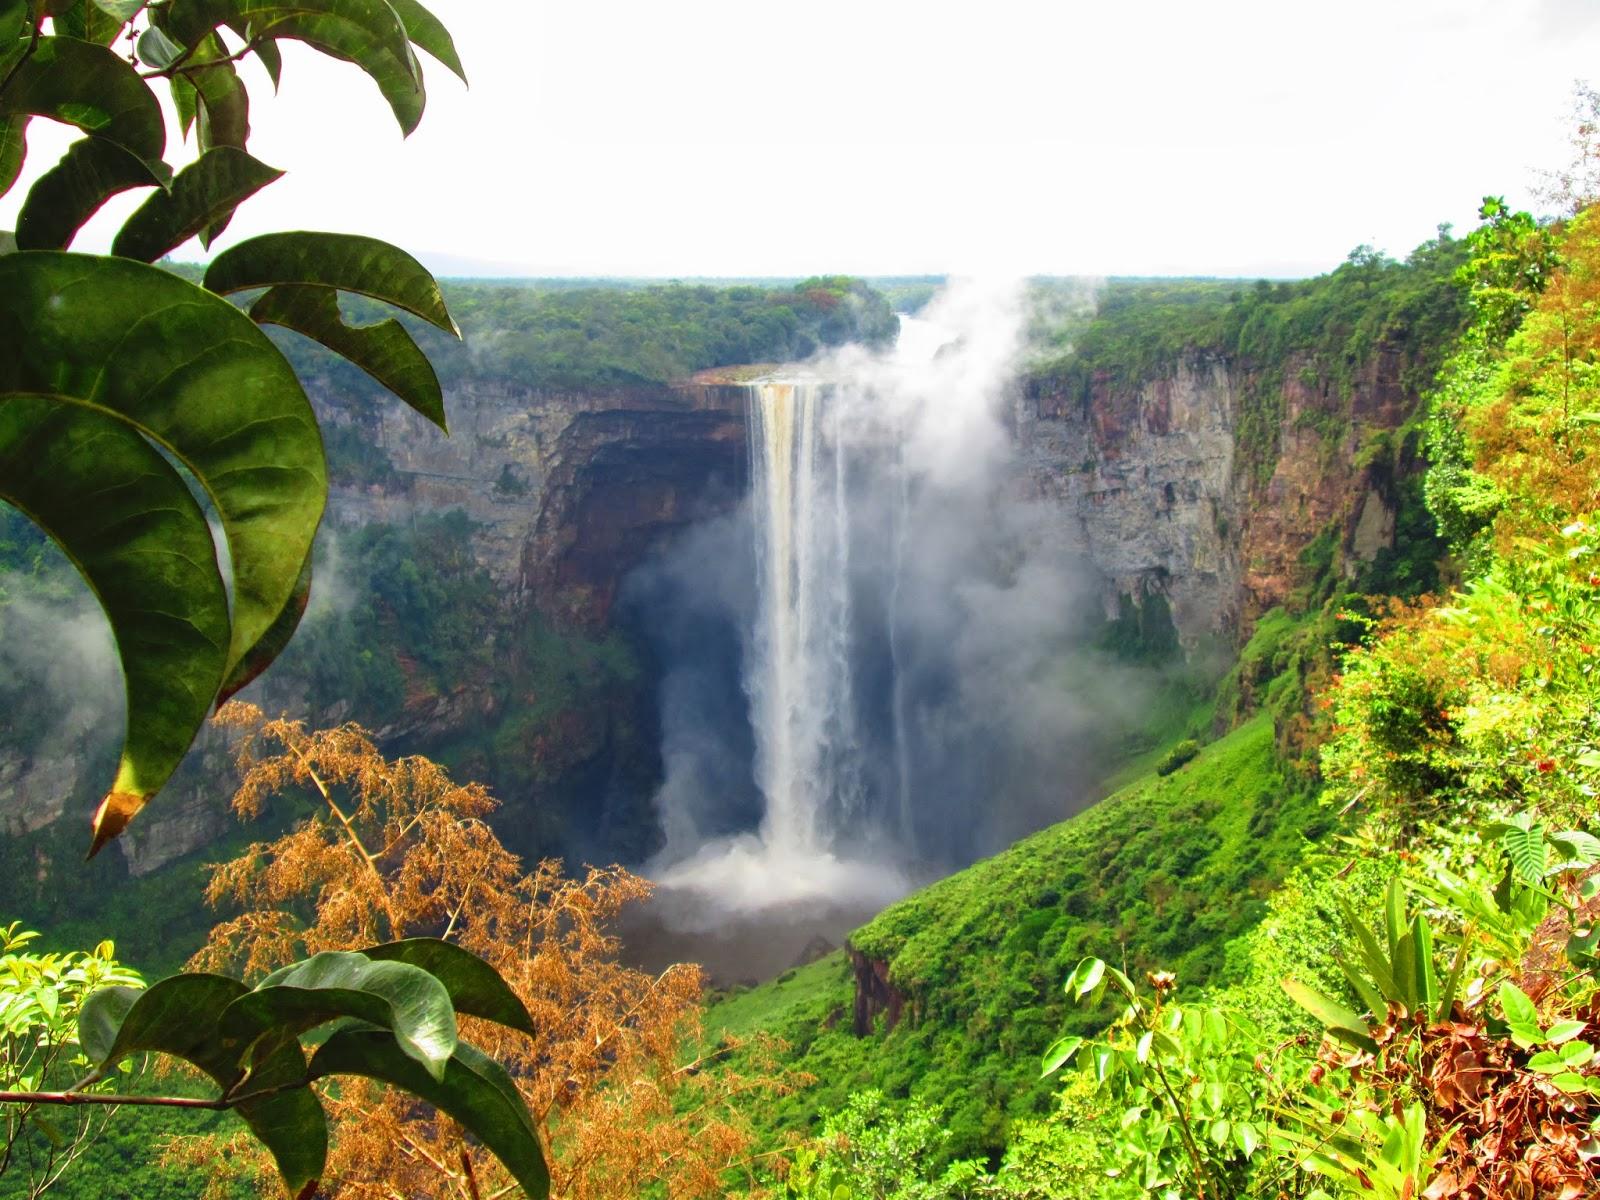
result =
M262 325L282 325L302 333L349 358L448 432L445 394L434 365L400 322L346 325L339 315L339 293L296 283L270 288L250 307L250 315Z

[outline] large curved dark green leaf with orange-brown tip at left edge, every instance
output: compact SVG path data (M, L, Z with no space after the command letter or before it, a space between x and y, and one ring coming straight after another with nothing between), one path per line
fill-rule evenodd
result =
M24 258L0 259L0 278ZM128 722L107 797L115 822L166 781L206 718L227 666L227 592L203 510L149 442L94 408L21 390L0 386L0 498L67 552L117 637Z

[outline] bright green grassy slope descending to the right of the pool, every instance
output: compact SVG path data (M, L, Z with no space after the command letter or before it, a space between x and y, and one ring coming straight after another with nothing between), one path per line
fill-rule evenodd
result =
M1016 1115L1045 1106L1038 1053L1102 1014L1069 1010L1061 982L1085 954L1221 982L1224 947L1322 816L1274 758L1259 715L1165 778L1147 774L1088 811L886 909L851 934L907 998L901 1024L851 1032L843 954L725 997L707 1034L766 1030L816 1083L752 1114L779 1134L810 1130L853 1091L939 1104L949 1154L995 1154Z

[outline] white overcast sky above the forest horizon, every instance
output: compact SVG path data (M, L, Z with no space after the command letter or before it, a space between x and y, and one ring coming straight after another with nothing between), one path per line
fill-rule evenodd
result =
M290 174L229 240L363 232L448 274L1302 275L1531 203L1600 82L1597 0L434 8L472 86L424 59L410 139L354 67L251 77L251 150Z

